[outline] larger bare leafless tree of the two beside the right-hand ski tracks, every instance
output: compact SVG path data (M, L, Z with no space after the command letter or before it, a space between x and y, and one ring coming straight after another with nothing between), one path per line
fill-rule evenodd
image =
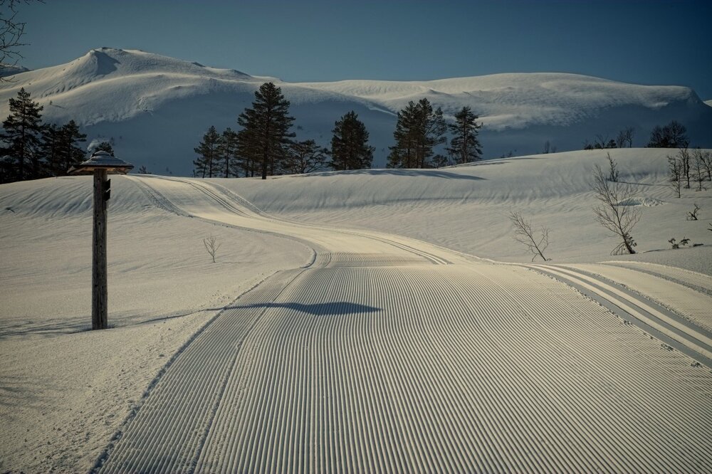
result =
M600 206L593 209L596 221L621 240L611 255L635 253L633 247L637 244L630 233L640 220L641 212L631 205L632 187L629 184L608 181L603 169L596 164L593 191L596 199L601 202Z

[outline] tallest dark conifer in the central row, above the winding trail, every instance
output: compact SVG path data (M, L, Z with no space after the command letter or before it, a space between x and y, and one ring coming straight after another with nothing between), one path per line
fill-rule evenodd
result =
M262 179L275 174L288 153L289 132L294 117L288 115L289 101L273 83L264 83L255 91L252 108L246 108L237 122L246 132L239 135L240 154L261 168Z

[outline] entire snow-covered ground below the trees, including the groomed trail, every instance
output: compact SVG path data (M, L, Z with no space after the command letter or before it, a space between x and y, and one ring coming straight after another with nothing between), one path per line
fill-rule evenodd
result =
M675 198L674 152L612 152L625 257L592 212L604 152L112 177L101 332L90 178L4 184L0 470L709 472L712 190Z

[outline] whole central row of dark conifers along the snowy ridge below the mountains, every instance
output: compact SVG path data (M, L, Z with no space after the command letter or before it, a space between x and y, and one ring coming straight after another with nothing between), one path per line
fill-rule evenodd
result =
M323 169L367 169L373 162L375 148L368 144L369 133L351 110L334 123L331 148L313 139L298 141L290 131L294 117L290 102L280 88L264 83L255 92L251 107L242 112L237 123L241 130L227 129L220 134L210 127L195 148L197 177L254 177L266 179L276 174L303 174ZM440 107L429 100L409 102L398 112L394 146L389 147L388 167L431 168L462 164L481 158L478 116L470 107L455 114L447 124ZM451 132L446 146L446 132ZM436 153L437 152L437 153ZM441 152L447 154L447 156Z

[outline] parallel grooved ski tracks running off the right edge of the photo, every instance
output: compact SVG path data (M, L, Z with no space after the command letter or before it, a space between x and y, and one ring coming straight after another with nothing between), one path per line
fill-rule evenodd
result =
M651 306L654 303L644 302L643 297L630 291L624 292L594 275L554 265L522 266L541 273L548 273L557 280L563 279L564 283L573 285L575 288L582 288L585 294L593 296L594 299L602 298L617 307L620 311L614 310L614 312L624 320L643 325L646 331L654 332L658 339L674 345L698 361L703 361L707 367L712 367L711 335L702 328L691 324L684 317L663 307L656 309ZM606 307L612 309L609 305Z

